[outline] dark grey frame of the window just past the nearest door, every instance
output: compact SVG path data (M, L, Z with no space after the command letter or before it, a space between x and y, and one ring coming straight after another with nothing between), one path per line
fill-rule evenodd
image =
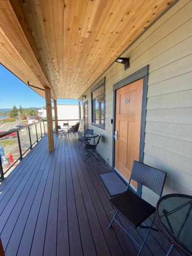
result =
M103 103L104 103L104 107L103 107L103 124L98 124L98 123L95 123L94 120L95 120L95 108L93 106L93 100L95 98L93 98L93 93L99 89L100 87L103 86ZM91 121L92 121L92 125L100 128L100 129L103 129L105 130L105 77L103 77L92 89L91 89L91 114L92 114L92 117L91 117Z

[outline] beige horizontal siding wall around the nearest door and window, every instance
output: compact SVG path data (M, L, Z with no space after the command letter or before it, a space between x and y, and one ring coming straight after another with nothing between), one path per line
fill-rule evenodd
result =
M112 164L113 84L149 65L144 163L167 172L164 193L192 194L192 1L180 0L157 20L122 55L130 57L130 68L114 63L104 76L105 130L99 153ZM143 188L143 197L148 190Z

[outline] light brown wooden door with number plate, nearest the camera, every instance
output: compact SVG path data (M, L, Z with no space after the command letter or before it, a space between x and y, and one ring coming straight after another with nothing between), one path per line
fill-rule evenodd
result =
M134 160L139 160L143 79L116 92L115 168L129 181ZM137 183L132 182L137 189Z

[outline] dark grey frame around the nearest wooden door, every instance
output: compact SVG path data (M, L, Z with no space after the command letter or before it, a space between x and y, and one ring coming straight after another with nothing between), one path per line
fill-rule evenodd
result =
M147 84L148 84L148 65L137 70L129 76L124 77L122 80L116 82L113 85L113 136L115 134L116 125L116 91L124 86L129 85L143 78L143 94L142 94L142 109L141 109L141 132L140 132L140 146L139 146L139 162L143 163L144 156L144 135L145 135L145 118L146 118L146 101L147 101ZM115 139L113 137L113 155L112 155L112 167L115 168ZM118 172L118 175L120 173ZM122 178L122 177L121 177ZM137 195L141 196L142 185L138 184ZM135 190L134 190L135 191Z

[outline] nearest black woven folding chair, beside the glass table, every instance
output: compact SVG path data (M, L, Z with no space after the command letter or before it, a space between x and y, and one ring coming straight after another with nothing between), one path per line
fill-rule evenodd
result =
M165 178L166 178L166 173L162 172L161 170L158 170L146 164L134 161L130 181L131 180L137 181L138 183L153 190L160 197L162 195ZM115 221L127 233L127 235L140 247L140 250L138 252L138 255L140 255L143 249L143 246L146 242L146 239L148 237L148 234L150 233L150 230L151 229L157 230L155 228L152 228L156 214L154 214L151 225L143 226L141 224L148 217L150 217L154 212L156 212L156 208L152 206L150 203L140 198L139 196L137 196L132 190L129 189L130 181L127 186L127 190L124 193L119 194L109 200L109 202L112 204L112 206L116 210L115 215L109 225L109 228L111 227L113 221ZM121 223L119 223L115 219L118 213L121 214L135 228L141 227L141 228L148 229L142 245L140 245L130 235L130 233L124 229Z

